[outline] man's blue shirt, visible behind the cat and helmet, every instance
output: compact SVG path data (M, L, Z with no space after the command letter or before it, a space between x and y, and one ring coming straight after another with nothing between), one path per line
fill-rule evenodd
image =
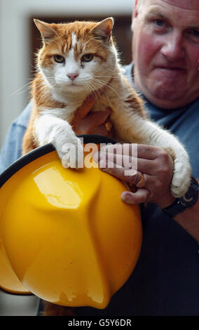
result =
M131 70L132 65L126 67L128 77ZM31 107L27 105L8 131L0 172L20 157ZM151 119L185 145L193 176L199 178L199 100L176 110L161 109L146 100L146 107ZM104 310L77 308L78 315L199 315L198 242L156 204L142 208L142 223L142 251L128 282Z

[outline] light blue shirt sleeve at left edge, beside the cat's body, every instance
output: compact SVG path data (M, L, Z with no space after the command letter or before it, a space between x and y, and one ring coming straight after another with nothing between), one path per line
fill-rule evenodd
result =
M27 129L32 103L29 103L8 130L0 152L0 173L22 155L22 139Z

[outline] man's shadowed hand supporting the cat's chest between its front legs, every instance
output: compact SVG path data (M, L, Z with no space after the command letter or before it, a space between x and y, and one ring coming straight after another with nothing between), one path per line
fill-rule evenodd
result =
M100 96L102 90L96 93ZM111 138L113 128L109 129L109 115L111 109L107 107L105 111L90 112L97 99L96 95L90 95L84 101L83 105L76 110L71 126L76 134L99 134ZM107 129L108 128L108 129Z

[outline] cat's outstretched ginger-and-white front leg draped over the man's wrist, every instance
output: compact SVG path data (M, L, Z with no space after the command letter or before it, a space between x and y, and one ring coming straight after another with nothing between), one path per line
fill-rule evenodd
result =
M115 126L122 141L165 149L174 159L172 195L181 197L188 190L191 180L191 165L188 153L176 137L149 119L144 119L137 114L121 113L119 120L115 121Z

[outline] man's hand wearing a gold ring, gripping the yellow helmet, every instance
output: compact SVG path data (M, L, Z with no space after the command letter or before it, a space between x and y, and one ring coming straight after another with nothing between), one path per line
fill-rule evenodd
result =
M144 187L123 192L123 202L154 202L162 209L174 202L170 192L174 163L165 150L149 145L108 145L95 154L94 160L99 162L102 171L134 186L132 191L144 174Z

